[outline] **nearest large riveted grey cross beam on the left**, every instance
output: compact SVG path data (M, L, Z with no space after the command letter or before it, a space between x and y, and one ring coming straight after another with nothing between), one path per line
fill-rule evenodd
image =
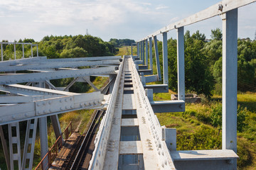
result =
M30 103L20 103L12 106L0 107L0 125L20 122L31 118L41 118L46 115L56 115L68 111L90 109L102 106L104 100L100 91L88 94L77 94L73 96L60 96Z

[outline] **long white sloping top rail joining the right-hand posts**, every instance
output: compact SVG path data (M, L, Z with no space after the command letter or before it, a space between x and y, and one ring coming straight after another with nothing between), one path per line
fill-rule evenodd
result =
M220 1L218 4L210 6L209 8L206 8L203 11L195 13L192 16L188 16L188 18L184 18L181 21L178 21L176 23L171 23L168 26L165 26L164 28L161 28L160 30L157 30L156 32L151 33L148 36L146 36L145 38L142 38L141 40L137 40L137 41L146 40L147 38L159 35L164 32L168 32L169 30L174 30L176 28L188 26L188 25L191 25L192 23L197 23L199 21L203 21L208 18L212 18L214 16L219 16L222 13L231 11L235 8L240 8L241 6L251 4L252 2L255 2L255 1L256 0L224 0L224 1Z

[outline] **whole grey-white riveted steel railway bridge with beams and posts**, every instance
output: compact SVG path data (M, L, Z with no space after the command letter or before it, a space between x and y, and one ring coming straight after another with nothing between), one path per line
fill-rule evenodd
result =
M0 96L0 135L8 169L32 169L38 126L42 162L37 169L54 169L48 152L47 117L56 139L63 144L58 114L81 109L97 111L88 132L80 137L77 149L61 169L83 169L82 160L87 161L85 169L236 169L238 8L252 2L255 0L220 1L171 23L132 44L132 48L137 47L136 55L47 59L33 57L34 45L22 43L31 45L31 57L4 61L3 45L10 42L1 42L0 91L4 93ZM154 113L186 110L184 27L214 16L223 21L223 148L177 151L176 129L161 126ZM177 32L178 100L154 101L154 93L168 92L167 33L171 30ZM162 36L163 61L159 61L156 35ZM157 74L153 74L153 40ZM18 43L13 43L15 48ZM91 76L109 77L110 83L100 91L90 81ZM65 78L74 79L61 88L50 83ZM162 80L163 84L146 84ZM76 81L87 82L95 92L69 92ZM23 146L22 121L27 126ZM8 137L3 125L8 125ZM82 159L87 147L84 143L89 140L93 144L91 157Z

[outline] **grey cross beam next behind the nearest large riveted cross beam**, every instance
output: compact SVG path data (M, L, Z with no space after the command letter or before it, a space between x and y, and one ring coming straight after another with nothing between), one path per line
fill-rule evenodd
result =
M55 72L39 72L1 76L0 84L16 84L28 81L45 81L49 79L64 79L69 77L85 77L93 74L114 74L115 67L99 67L95 69L61 70Z

